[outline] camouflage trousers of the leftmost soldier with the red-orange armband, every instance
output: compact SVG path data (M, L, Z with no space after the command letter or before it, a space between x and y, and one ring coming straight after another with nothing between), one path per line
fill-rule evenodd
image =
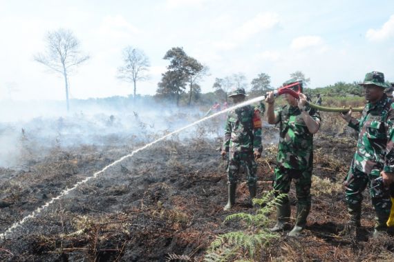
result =
M249 185L256 183L257 163L254 161L253 152L229 152L229 163L227 166L228 183L237 183L239 180L239 169L243 165L246 169L246 179Z

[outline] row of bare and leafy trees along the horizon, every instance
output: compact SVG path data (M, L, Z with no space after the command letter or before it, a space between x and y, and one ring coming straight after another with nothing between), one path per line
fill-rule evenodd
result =
M83 54L80 44L73 32L65 29L50 31L46 34L46 51L37 53L35 61L46 66L50 71L61 74L64 77L66 91L66 107L69 110L69 77L77 66L87 61L90 57ZM122 51L122 66L118 68L118 79L133 84L133 99L137 97L138 81L149 79L150 62L143 50L127 46ZM172 101L177 106L182 103L191 105L192 102L198 103L201 98L200 81L210 75L209 67L200 63L194 57L190 57L181 47L171 48L165 53L163 59L169 61L167 71L162 73L160 82L154 97L157 100ZM310 79L303 72L296 71L290 74L290 79L301 79L306 85L306 93L310 96L321 94L353 94L362 95L362 88L357 82L344 83L337 82L324 88L308 88ZM250 83L241 72L229 76L216 78L212 89L214 97L222 101L227 101L227 94L232 88L245 88L251 97L258 97L266 92L273 90L271 77L261 72ZM186 97L186 99L185 99ZM186 100L186 101L185 101Z

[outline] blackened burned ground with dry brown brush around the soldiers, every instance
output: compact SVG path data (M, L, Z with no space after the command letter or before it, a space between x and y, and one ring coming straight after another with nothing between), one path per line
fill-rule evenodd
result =
M328 120L315 136L312 210L303 237L291 239L283 232L257 261L393 259L392 236L379 243L370 238L373 209L368 194L357 235L339 234L348 219L341 180L355 137L335 116L324 117ZM160 141L79 185L2 239L1 261L202 261L216 236L238 230L235 222L223 223L227 215L256 211L247 206L245 182L238 185L235 207L223 211L225 162L217 152L220 139L207 134L211 125L198 126L192 137ZM271 189L277 130L271 126L263 132L260 195ZM0 169L0 231L145 144L132 136L116 141L122 143L53 146L46 157ZM293 188L290 199L294 217ZM271 216L274 219L274 212Z

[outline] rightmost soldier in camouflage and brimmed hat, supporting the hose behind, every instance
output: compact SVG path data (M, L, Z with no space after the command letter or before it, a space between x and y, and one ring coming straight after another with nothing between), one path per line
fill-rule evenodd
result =
M394 181L394 104L384 90L382 72L369 72L364 82L366 104L360 119L351 116L352 110L341 117L350 128L359 132L357 150L344 179L346 204L350 214L346 229L360 226L362 192L369 185L370 196L376 213L373 236L387 230L386 221L390 214L391 201L387 187L375 185L375 179L382 176L386 186ZM353 231L353 230L352 230Z

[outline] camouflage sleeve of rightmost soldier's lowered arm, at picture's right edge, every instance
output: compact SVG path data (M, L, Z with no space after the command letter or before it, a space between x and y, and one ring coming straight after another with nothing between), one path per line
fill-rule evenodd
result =
M394 103L391 104L391 110L388 111L386 120L386 157L384 159L384 172L394 172Z

